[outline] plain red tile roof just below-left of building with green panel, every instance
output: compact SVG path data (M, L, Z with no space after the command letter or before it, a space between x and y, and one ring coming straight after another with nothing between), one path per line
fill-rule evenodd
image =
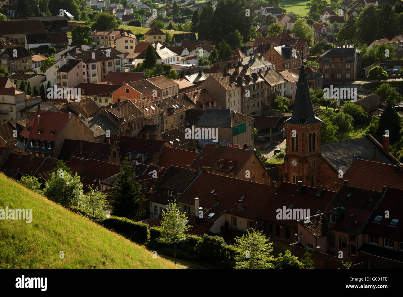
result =
M165 168L169 168L171 165L186 168L186 165L190 165L196 157L196 152L173 147L163 147L158 164L161 164Z

